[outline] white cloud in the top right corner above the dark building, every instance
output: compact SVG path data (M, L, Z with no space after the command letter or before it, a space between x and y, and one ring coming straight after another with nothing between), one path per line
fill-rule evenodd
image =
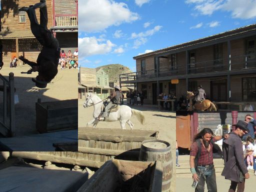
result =
M194 4L194 9L203 15L211 15L216 10L231 12L233 18L256 17L256 0L186 0Z

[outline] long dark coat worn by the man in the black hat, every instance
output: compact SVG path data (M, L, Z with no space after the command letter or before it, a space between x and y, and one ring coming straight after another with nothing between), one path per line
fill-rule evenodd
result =
M228 139L223 140L224 168L221 173L225 179L240 182L240 172L244 175L248 172L243 158L241 138L231 132Z

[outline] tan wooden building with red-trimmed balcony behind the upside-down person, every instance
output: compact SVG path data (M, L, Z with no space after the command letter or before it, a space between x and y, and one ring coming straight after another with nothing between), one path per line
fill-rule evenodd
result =
M4 65L9 65L14 55L36 60L41 45L30 30L26 12L18 9L37 2L39 0L1 0L0 41L3 45ZM46 0L47 28L52 30L60 48L66 52L69 49L74 52L78 45L77 3L78 0ZM36 9L36 16L39 21L39 9ZM18 64L21 63L18 61Z

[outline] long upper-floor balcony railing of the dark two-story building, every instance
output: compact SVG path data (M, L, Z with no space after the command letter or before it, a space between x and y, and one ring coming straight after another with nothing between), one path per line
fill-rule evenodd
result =
M120 75L121 81L137 80L137 79L150 79L156 77L166 76L178 76L185 74L202 74L209 72L220 72L228 70L239 70L246 68L256 68L256 56L255 55L238 55L230 57L229 59L216 59L206 60L202 62L188 63L187 71L185 64L179 64L175 68L173 67L161 67L159 63L158 74L156 69L137 71L133 73L124 73ZM146 68L146 66L145 66Z

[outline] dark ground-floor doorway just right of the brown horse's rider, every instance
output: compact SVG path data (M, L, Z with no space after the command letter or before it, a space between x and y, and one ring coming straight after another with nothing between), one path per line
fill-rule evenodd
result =
M211 100L226 101L226 95L227 95L226 79L210 81L210 99Z

